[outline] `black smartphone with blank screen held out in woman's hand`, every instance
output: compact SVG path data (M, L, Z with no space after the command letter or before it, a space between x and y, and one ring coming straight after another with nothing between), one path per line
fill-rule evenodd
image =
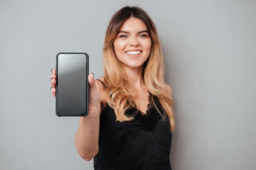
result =
M88 115L89 56L85 52L56 55L56 115Z

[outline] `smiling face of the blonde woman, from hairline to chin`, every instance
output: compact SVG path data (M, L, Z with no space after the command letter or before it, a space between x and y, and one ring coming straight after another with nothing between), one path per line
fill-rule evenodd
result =
M148 59L151 38L146 24L135 17L128 18L114 40L117 59L125 66L139 68Z

